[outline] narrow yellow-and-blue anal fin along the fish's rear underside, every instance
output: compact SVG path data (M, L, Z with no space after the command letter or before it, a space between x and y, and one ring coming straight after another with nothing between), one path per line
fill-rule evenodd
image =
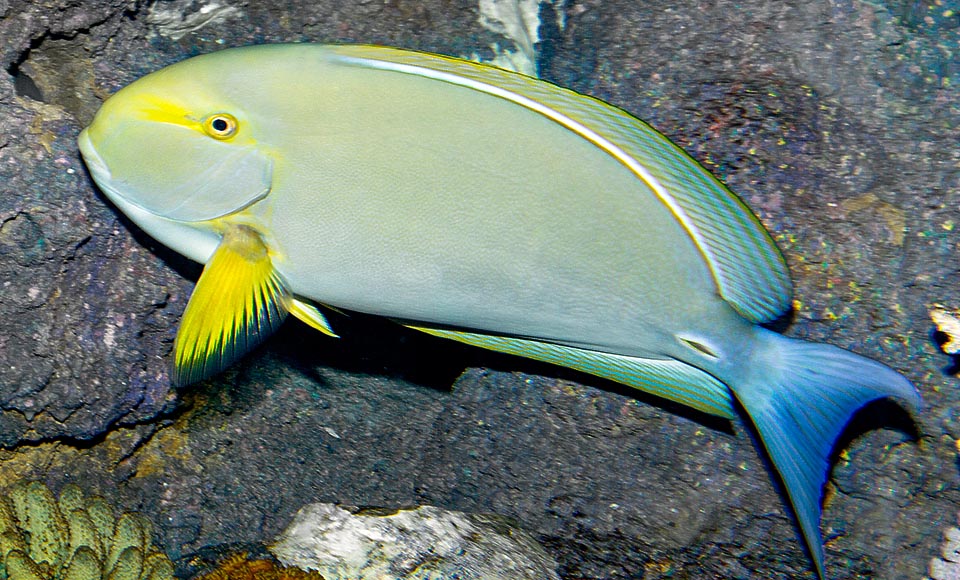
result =
M736 417L733 397L723 383L700 369L679 361L609 354L525 338L404 325L440 338L610 379L710 415L726 419Z

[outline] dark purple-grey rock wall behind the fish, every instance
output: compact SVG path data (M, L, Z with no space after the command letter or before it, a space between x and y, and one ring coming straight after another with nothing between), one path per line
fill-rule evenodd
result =
M928 317L960 307L956 8L562 10L563 29L543 19L542 76L650 121L744 198L791 266L789 334L923 393L916 425L878 405L848 430L823 521L833 578L922 576L960 503L956 365ZM564 578L812 577L740 424L616 385L335 317L340 341L290 322L222 377L170 387L199 268L94 190L74 139L101 100L253 42L491 57L504 39L478 15L466 0L0 0L0 480L82 482L150 516L172 557L266 541L313 501L427 503L516 519Z

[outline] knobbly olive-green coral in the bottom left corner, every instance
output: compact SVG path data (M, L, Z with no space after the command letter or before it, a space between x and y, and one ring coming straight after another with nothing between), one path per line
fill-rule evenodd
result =
M38 481L0 495L0 580L170 580L173 563L152 545L144 517L65 485Z

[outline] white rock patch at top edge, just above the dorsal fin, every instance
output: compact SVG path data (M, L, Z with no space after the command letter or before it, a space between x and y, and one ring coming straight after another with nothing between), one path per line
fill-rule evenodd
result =
M536 44L540 42L540 6L550 4L557 12L557 25L563 28L565 0L480 0L480 25L505 36L516 50L490 48L496 55L491 64L537 76ZM474 55L474 60L477 60Z

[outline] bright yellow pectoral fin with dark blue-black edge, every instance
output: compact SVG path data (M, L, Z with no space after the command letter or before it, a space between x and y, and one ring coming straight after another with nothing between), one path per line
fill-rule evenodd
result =
M293 301L260 235L231 226L183 313L174 344L174 384L195 383L235 362L280 326Z

